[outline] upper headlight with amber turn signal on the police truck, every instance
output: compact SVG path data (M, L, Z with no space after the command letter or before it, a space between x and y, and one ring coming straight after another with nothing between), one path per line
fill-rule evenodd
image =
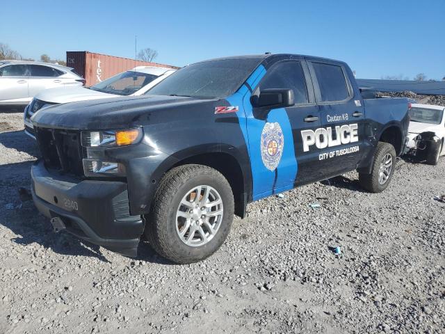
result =
M141 127L136 129L83 131L82 146L86 148L114 148L139 143L143 137Z

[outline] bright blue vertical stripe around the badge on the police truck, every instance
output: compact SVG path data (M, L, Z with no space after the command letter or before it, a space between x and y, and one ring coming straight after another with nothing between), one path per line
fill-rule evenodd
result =
M266 74L266 68L260 65L246 81L254 90ZM250 104L250 91L243 85L234 95L226 99L232 106L239 106L237 116L244 140L248 145L250 168L252 169L253 200L259 200L273 193L293 189L298 164L293 148L293 134L289 117L283 108L273 109L267 120L254 118ZM243 109L243 110L242 110ZM244 111L244 112L243 112ZM277 122L282 128L284 147L280 164L275 170L268 170L261 159L261 132L266 122Z

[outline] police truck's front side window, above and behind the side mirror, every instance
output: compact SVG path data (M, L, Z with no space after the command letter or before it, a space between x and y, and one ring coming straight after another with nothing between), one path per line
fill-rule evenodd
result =
M307 103L305 74L299 61L284 61L266 74L259 84L259 90L266 88L292 89L295 103Z

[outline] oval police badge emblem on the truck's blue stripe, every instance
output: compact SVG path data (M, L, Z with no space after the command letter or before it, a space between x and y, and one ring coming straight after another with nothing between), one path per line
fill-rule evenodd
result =
M280 124L268 123L261 132L261 159L268 170L275 170L283 155L284 136Z

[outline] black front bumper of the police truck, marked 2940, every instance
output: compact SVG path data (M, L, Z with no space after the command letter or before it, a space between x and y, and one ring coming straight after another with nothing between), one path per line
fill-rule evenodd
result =
M31 168L31 192L55 230L122 255L137 255L144 223L141 216L129 213L127 183L56 175L37 161Z

